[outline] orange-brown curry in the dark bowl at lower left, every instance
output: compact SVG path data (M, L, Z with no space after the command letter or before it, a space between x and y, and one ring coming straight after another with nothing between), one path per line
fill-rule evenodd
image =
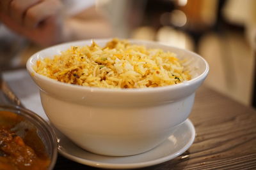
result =
M15 113L0 111L0 169L46 170L51 160L35 129L25 129L23 138L11 130L22 120Z

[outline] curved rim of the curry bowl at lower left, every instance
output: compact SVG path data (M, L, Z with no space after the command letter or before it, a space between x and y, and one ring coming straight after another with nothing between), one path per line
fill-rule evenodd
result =
M49 170L53 169L56 164L57 157L58 157L58 149L57 149L56 135L55 135L54 130L52 129L51 125L49 125L42 117L40 117L33 111L30 111L26 108L22 108L20 106L0 104L0 108L7 109L7 110L17 110L17 111L19 111L19 113L16 113L16 112L13 112L13 113L20 115L20 117L24 117L29 122L31 122L31 120L35 120L36 124L39 124L44 128L44 131L46 131L47 134L49 135L49 138L51 139L50 143L52 144L51 163L49 164L49 167L47 169L49 169ZM31 122L31 124L35 124L35 122Z

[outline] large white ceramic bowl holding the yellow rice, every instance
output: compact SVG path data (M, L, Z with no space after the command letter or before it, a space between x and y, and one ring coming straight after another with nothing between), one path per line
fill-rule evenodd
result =
M95 39L102 46L107 41L109 39ZM162 143L188 118L195 91L209 72L207 62L196 53L152 41L130 41L149 48L162 48L188 59L193 79L148 89L100 89L61 83L33 70L36 60L53 57L70 46L90 45L91 40L46 48L27 62L31 78L40 88L42 106L49 120L90 152L134 155Z

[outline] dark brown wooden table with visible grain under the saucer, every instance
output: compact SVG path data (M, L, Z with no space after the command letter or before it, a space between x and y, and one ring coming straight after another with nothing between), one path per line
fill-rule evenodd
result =
M196 92L189 116L196 138L188 151L147 170L256 169L256 111L207 87ZM97 169L58 156L54 170Z

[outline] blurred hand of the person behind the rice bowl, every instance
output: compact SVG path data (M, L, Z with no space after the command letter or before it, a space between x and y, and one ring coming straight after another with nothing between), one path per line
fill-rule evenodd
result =
M0 21L39 45L59 43L63 5L60 0L0 0Z

